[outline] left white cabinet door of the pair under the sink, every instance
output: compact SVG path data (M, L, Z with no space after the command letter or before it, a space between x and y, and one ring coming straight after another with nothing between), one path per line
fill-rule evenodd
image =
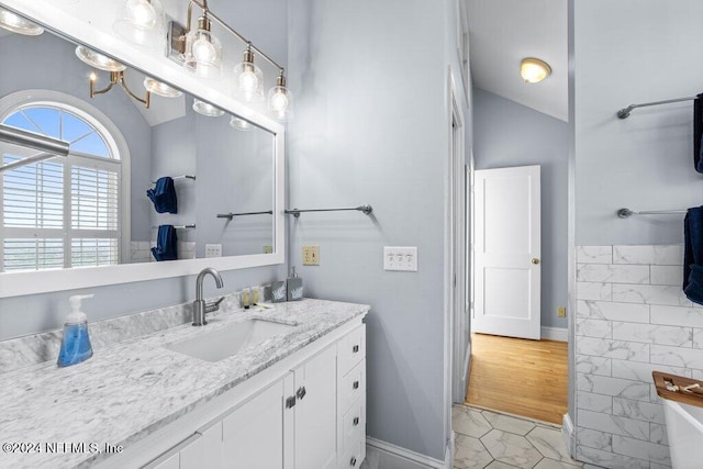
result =
M260 391L223 420L222 467L283 469L283 384Z

